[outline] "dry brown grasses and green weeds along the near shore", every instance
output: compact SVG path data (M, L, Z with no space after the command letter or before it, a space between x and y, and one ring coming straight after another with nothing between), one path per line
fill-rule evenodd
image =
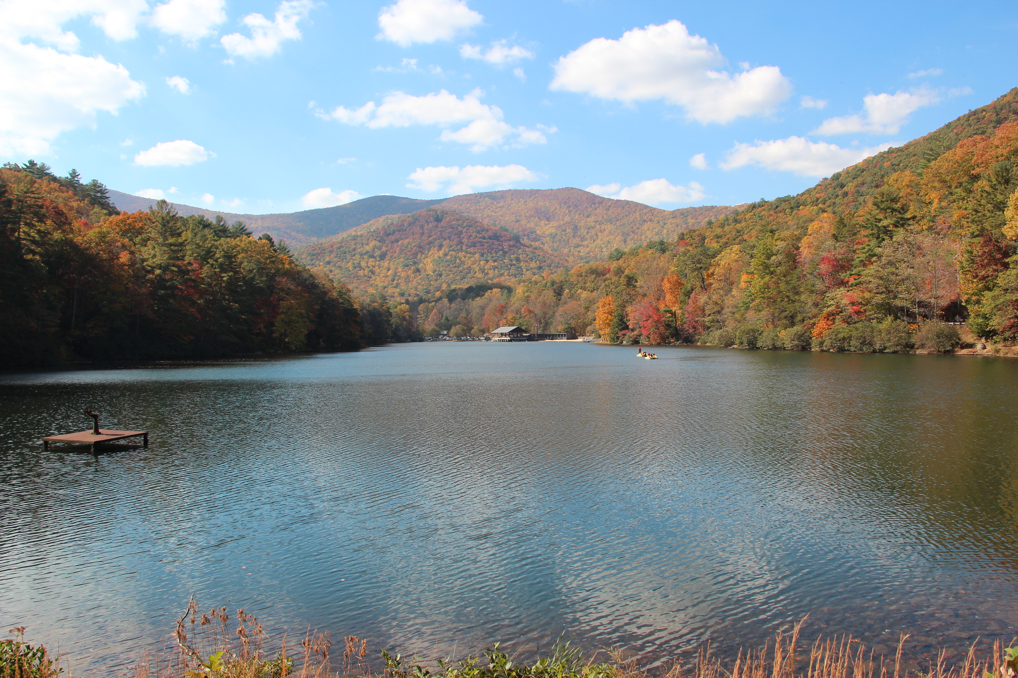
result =
M973 643L966 654L948 662L942 650L929 665L909 669L903 662L908 635L902 634L894 657L878 656L852 638L838 636L802 642L805 620L790 632L779 631L762 648L741 650L734 658L720 658L710 645L695 657L673 660L656 672L665 678L1013 678L1018 669L1018 648L997 641L988 652L977 652ZM233 624L236 624L235 629ZM59 662L44 648L20 639L23 627L11 629L17 639L0 640L0 676L3 678L57 678ZM328 634L306 632L299 643L284 635L275 652L267 652L268 634L253 616L237 610L231 619L226 608L203 612L191 600L177 622L174 633L178 652L158 658L146 654L131 671L133 678L648 678L638 658L626 658L622 650L605 651L584 660L583 654L560 639L550 655L517 661L495 643L484 658L407 661L386 650L380 661L369 660L367 641L344 638L342 657L333 657ZM299 644L299 650L296 645ZM600 655L601 653L599 653Z

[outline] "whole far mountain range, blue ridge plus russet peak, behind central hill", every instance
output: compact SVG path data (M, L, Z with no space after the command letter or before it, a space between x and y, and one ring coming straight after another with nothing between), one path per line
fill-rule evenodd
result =
M112 190L110 197L123 211L148 209L156 203ZM630 200L604 198L578 188L493 191L439 200L376 195L336 207L282 214L238 214L174 203L181 214L210 219L222 214L228 222L243 222L256 235L269 233L297 247L337 236L380 217L408 214L439 205L518 233L527 243L561 253L575 263L602 258L616 247L628 249L649 240L674 240L682 231L738 209L659 209Z

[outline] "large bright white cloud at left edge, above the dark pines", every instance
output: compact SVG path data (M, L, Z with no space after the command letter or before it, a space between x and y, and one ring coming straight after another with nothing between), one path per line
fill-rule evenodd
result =
M116 115L145 96L144 83L102 56L62 54L5 37L0 72L0 156L49 155L62 132L95 127L98 111Z

